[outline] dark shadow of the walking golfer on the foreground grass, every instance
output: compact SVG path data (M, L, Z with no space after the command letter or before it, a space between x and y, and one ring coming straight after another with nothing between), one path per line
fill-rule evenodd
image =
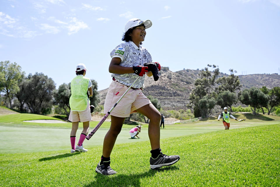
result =
M169 166L160 169L149 169L144 173L137 173L137 169L135 168L136 173L133 174L116 174L113 176L106 176L100 173L95 175L95 181L92 181L89 184L86 184L84 187L91 186L141 186L140 179L154 176L157 172L164 172L167 170L178 170L177 166Z

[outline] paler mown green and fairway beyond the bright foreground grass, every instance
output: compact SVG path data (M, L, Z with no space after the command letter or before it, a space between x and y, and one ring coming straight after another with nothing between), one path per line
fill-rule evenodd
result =
M264 124L280 123L280 117L251 114L234 114L235 117L246 119L243 122L231 120L230 130L243 127L254 127ZM217 130L224 130L222 121L217 121L218 117L203 119L196 122L185 122L184 124L165 125L166 129L161 129L161 139L185 136L190 134L198 134ZM66 124L44 124L22 122L24 120L54 120L56 118L35 115L35 114L12 114L0 116L0 141L2 147L0 153L26 153L39 151L56 151L70 150L70 131L71 123ZM90 130L92 130L98 122L90 122ZM104 122L95 135L88 141L85 140L85 148L98 146L103 144L104 136L107 133L110 122ZM82 123L77 131L77 141L82 131ZM136 143L139 141L148 141L148 124L144 124L140 133L140 139L131 139L129 130L134 127L124 124L120 132L116 144ZM12 147L12 149L11 149Z

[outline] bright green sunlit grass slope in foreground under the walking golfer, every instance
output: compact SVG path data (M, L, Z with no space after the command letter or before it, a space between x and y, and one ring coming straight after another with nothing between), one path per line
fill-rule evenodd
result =
M113 176L95 172L102 146L74 154L6 152L0 186L280 186L279 139L280 124L162 139L163 152L181 159L158 170L149 168L148 141L122 143L111 155Z

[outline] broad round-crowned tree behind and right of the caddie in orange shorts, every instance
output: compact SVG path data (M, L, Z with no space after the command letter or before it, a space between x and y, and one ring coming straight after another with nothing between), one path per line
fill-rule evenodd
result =
M257 108L267 105L268 97L260 89L252 87L239 94L239 101L245 105L250 105L253 115L256 115Z

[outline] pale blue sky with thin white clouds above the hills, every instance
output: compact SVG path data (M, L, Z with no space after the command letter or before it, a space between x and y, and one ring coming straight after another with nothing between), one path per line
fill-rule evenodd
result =
M1 0L0 61L43 72L58 88L85 63L98 90L127 20L151 20L143 47L171 71L218 65L236 75L278 73L280 0Z

